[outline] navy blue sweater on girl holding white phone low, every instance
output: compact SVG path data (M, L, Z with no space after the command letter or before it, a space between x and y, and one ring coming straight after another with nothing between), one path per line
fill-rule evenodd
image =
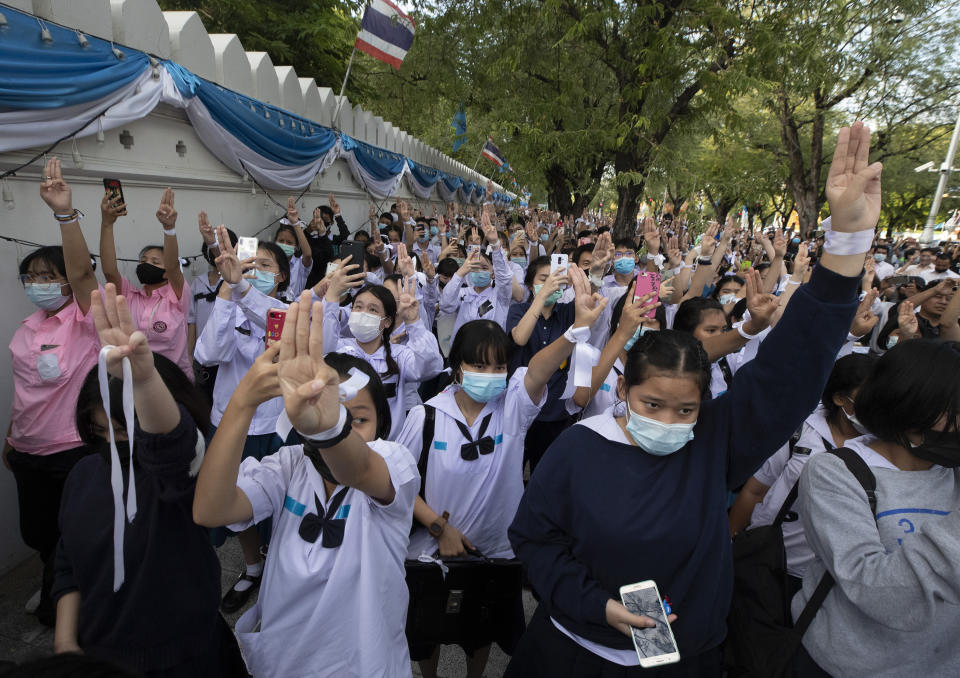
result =
M857 307L859 280L817 268L757 357L702 404L695 437L665 457L567 429L530 479L509 537L551 616L631 649L606 603L646 579L669 597L681 656L726 635L733 563L727 487L743 483L816 407ZM609 415L608 415L609 416Z

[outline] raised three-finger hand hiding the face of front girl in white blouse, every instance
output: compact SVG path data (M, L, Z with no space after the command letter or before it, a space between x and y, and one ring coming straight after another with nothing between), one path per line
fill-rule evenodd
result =
M287 309L280 337L277 377L283 406L300 433L315 435L340 418L340 374L323 361L323 306L304 290Z

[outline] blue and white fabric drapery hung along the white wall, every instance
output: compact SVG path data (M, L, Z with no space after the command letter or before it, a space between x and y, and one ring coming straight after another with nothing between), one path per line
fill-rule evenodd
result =
M3 6L0 152L43 148L146 117L160 103L184 110L224 165L270 190L300 189L337 158L372 196L407 179L420 199L479 203L479 185L204 80L179 64L85 36ZM50 40L44 40L44 29ZM86 43L86 46L82 43ZM499 194L498 194L499 195ZM501 196L501 201L502 201Z

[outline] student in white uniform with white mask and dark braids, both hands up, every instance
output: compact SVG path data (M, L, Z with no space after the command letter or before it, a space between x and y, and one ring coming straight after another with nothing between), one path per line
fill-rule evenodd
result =
M420 302L415 287L416 281L408 280L399 303L382 285L367 285L361 289L350 309L347 324L352 336L349 337L341 335L340 314L343 310L337 302L341 291L339 282L331 283L323 303L324 346L327 350L363 358L383 381L390 403L390 440L396 440L406 417L406 384L432 379L443 369L443 356L436 338L419 322ZM390 342L398 320L406 323L404 344Z

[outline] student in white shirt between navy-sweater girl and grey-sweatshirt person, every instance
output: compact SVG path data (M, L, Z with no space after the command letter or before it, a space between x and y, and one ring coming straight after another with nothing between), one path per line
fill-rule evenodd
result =
M753 474L737 495L730 507L731 535L744 529L773 524L788 501L788 510L796 513L796 493L793 490L807 461L825 450L843 447L847 440L866 433L854 414L854 403L860 386L875 364L876 358L858 353L837 361L823 389L820 406L803 423L796 446L792 451L789 444L780 448ZM785 521L782 529L787 551L787 573L790 575L789 590L793 595L800 590L804 570L813 560L813 551L807 545L799 520Z

